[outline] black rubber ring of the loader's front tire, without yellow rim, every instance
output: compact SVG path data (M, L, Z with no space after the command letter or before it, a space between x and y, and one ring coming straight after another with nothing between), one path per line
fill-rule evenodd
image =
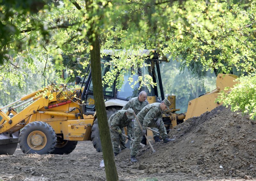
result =
M31 148L27 141L29 134L34 131L44 133L47 139L45 146L40 150L35 150ZM25 154L51 154L54 151L55 146L57 144L57 136L55 134L55 131L49 124L42 121L35 121L29 123L21 130L19 136L19 144L21 151Z

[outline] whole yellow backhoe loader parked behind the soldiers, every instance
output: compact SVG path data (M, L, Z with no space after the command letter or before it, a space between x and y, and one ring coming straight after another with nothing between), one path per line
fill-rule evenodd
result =
M143 50L146 54L145 62L151 66L139 69L138 75L148 74L153 77L157 86L149 91L139 83L134 88L128 83L130 76L124 76L124 84L119 91L116 82L112 86L103 86L103 95L108 118L122 109L127 101L138 96L139 91L148 93L148 102L161 102L164 99L164 91L159 70L158 56L150 56L153 52ZM112 51L105 51L101 62L106 63L115 56ZM101 76L113 69L110 65L102 66ZM12 155L19 142L23 153L37 154L69 154L77 144L77 141L92 141L98 152L102 151L97 116L95 114L93 86L90 67L85 72L84 80L76 77L76 83L82 83L81 88L70 90L60 85L48 86L44 89L30 93L13 103L0 108L0 154ZM136 78L136 77L133 77ZM137 77L138 78L138 77ZM175 96L169 96L172 103L169 111L164 112L163 121L166 129L171 129L177 124L193 116L211 111L221 103L215 103L215 98L224 87L233 87L236 83L234 75L219 74L216 81L216 90L208 92L199 98L189 101L186 113L175 113ZM50 92L46 90L51 90ZM83 104L83 101L86 104ZM20 112L18 108L22 108ZM3 111L7 109L7 111ZM10 114L13 114L11 118ZM148 138L153 140L153 134L148 131Z

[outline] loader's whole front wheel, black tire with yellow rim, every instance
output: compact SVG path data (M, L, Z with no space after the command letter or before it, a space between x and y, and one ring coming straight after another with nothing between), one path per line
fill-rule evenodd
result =
M51 154L57 143L52 127L42 121L31 122L20 132L20 149L25 154Z

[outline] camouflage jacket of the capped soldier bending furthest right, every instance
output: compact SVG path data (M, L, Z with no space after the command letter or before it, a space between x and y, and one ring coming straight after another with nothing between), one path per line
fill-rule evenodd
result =
M154 119L163 118L160 103L146 105L137 115L143 129L147 129L148 124ZM137 120L134 121L135 126L139 126Z

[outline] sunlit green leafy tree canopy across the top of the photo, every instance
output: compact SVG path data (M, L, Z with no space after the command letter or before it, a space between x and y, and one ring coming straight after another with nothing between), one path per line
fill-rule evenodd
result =
M89 39L98 33L101 49L157 49L181 62L180 71L188 69L199 79L207 70L255 72L255 1L37 2L1 1L0 77L12 85L24 86L28 69L42 75L55 73L57 82L64 81L63 75L66 83L73 81L89 63L93 49ZM110 62L113 71L103 84L118 78L121 68L133 67L137 72L145 66L142 57L120 56ZM38 68L38 62L44 63L44 69ZM140 78L144 84L152 83L148 76Z

